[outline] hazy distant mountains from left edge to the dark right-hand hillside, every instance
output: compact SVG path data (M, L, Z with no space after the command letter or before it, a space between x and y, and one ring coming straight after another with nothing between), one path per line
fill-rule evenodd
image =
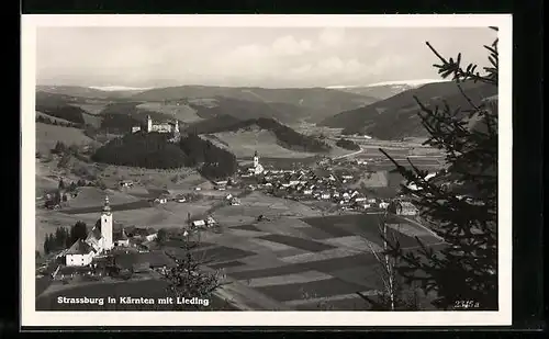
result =
M341 111L365 106L378 100L369 95L324 88L265 89L180 86L149 90L121 90L111 87L109 90L104 90L74 86L38 86L36 90L68 97L111 101L173 102L215 99L216 112L205 114L227 114L242 120L272 117L287 123L320 122ZM208 109L211 109L210 105ZM246 116L238 116L240 113L235 110L242 111L242 114Z

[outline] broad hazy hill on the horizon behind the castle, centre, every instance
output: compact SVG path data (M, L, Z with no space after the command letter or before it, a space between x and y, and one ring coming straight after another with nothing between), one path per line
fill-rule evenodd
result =
M229 88L206 86L181 86L147 90L132 100L159 102L181 99L224 98L224 104L243 106L246 103L262 102L271 108L268 115L284 121L284 116L294 120L321 121L345 110L351 110L374 102L376 98L347 93L324 88L307 89L264 89L264 88ZM238 102L243 101L243 102ZM217 104L223 106L222 104ZM265 105L262 106L265 109ZM274 113L281 111L279 113ZM290 112L291 113L290 113ZM288 113L284 113L288 112ZM232 114L229 114L232 115ZM253 117L261 117L259 115Z

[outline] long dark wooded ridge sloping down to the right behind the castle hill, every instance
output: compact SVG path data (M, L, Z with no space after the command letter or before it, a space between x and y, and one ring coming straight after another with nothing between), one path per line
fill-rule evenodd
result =
M260 128L270 131L274 133L277 136L278 143L280 146L299 151L311 151L311 152L324 152L330 149L329 145L320 140L315 137L311 137L307 135L303 135L301 133L295 132L294 129L282 125L273 118L268 117L259 117L259 118L250 118L246 121L239 121L231 125L215 125L212 124L205 128L201 126L200 132L198 133L220 133L220 132L236 132L238 129L251 127L253 125L257 125ZM191 126L190 132L194 132Z

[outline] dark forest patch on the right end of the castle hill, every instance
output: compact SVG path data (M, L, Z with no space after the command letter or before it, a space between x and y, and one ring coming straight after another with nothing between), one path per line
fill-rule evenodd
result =
M198 167L205 178L231 177L237 169L235 155L195 134L189 134L179 145L187 155L187 166Z

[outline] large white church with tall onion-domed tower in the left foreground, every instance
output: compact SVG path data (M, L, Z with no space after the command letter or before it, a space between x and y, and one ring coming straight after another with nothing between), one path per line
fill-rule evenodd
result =
M122 235L124 236L124 230ZM78 239L70 246L65 253L66 265L88 265L97 255L109 251L113 247L112 213L109 196L105 196L100 223L91 229L86 240Z

